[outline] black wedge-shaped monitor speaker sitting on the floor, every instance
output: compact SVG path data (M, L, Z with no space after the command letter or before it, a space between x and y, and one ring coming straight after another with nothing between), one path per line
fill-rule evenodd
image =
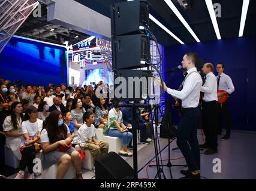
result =
M96 179L132 179L133 175L131 166L115 152L95 161Z

